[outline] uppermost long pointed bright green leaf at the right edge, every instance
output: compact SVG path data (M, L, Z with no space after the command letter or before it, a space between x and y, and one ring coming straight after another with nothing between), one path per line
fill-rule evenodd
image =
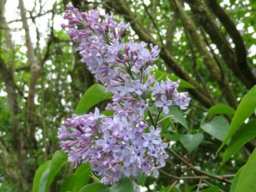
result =
M218 152L225 146L225 143L228 142L230 137L237 131L237 129L244 123L244 121L253 114L256 107L256 85L248 91L248 93L241 100L241 103L237 107L237 111L234 113L233 119L228 129L228 133L225 135L223 143L217 150Z

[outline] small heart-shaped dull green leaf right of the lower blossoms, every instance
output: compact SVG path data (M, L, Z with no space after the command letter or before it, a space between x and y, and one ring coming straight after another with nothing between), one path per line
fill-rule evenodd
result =
M180 137L180 142L191 153L203 141L203 134L198 132L196 134L183 134Z

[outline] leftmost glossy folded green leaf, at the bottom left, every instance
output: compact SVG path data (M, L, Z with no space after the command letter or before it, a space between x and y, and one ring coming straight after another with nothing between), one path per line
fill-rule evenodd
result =
M51 161L44 163L38 168L39 174L35 174L33 182L33 192L44 192L49 189L54 177L60 171L60 168L67 163L67 154L57 150Z

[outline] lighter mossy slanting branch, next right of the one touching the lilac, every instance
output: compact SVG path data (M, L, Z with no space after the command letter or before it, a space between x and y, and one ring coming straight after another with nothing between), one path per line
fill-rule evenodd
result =
M211 53L206 49L207 46L203 41L202 37L198 34L194 21L192 21L191 18L187 15L179 1L171 0L171 3L173 7L176 8L176 10L178 11L180 19L182 20L184 26L187 28L191 37L193 38L194 44L196 45L198 52L202 56L204 64L209 69L212 77L216 80L216 82L218 82L219 87L221 87L221 89L223 90L225 98L228 101L229 105L236 108L237 101L234 97L233 91L228 84L228 81L225 80L223 76L221 76L221 69L216 64L214 58L212 58Z

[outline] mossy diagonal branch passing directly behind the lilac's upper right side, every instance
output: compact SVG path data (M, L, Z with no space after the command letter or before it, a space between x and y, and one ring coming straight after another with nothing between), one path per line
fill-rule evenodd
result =
M198 82L194 80L194 78L189 76L189 73L181 66L181 64L177 62L177 60L175 60L175 58L173 58L167 49L164 49L164 47L158 44L157 41L155 41L153 37L148 34L144 26L142 26L142 24L137 20L133 13L130 12L130 9L123 0L104 1L103 6L107 8L114 8L115 12L123 15L124 19L130 22L133 30L135 30L140 40L160 46L160 57L162 60L164 60L165 64L167 64L167 67L171 68L180 78L187 80L189 83L191 83L191 85L196 87L196 89L188 90L191 96L194 96L194 98L205 105L205 107L214 105L208 98L207 94L205 94L205 89L203 89L203 87L201 87Z

